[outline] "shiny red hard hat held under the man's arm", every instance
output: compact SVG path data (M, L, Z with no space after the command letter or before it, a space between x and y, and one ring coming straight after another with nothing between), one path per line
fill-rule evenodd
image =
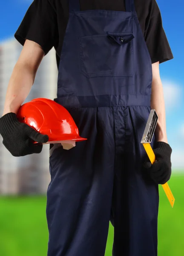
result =
M17 113L20 122L49 136L47 143L74 143L87 140L79 136L79 130L70 113L51 99L38 98L23 104Z

